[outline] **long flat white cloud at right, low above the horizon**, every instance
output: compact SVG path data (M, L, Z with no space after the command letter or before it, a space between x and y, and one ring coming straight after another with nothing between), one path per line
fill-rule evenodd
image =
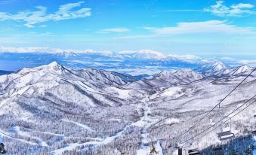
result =
M209 20L205 22L177 23L174 27L145 27L156 35L182 35L198 33L254 33L252 28L231 25L227 20Z

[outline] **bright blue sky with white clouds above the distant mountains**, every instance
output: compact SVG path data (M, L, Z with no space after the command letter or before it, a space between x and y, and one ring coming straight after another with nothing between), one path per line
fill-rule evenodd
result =
M0 0L0 46L255 54L255 1Z

